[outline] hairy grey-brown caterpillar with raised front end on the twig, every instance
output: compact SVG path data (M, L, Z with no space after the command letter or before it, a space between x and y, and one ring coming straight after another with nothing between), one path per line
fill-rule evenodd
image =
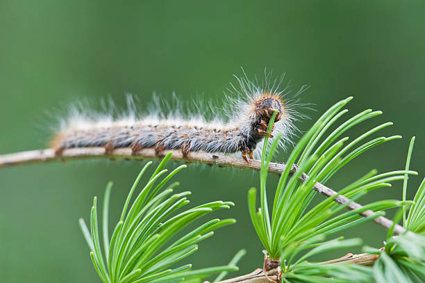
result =
M76 112L63 121L52 140L56 154L73 147L105 147L111 152L119 147L138 150L153 147L160 154L165 149L181 149L183 156L189 152L241 152L249 163L257 145L267 134L269 120L277 112L272 134L283 134L281 146L290 141L296 128L294 120L303 116L294 110L294 102L283 99L285 89L278 90L283 76L273 82L267 79L263 86L249 81L245 75L238 79L240 88L231 90L227 118L206 119L205 115L183 115L180 110L163 114L156 104L147 115L135 113L133 102L126 115L113 118L108 114ZM303 91L301 88L297 95ZM130 99L132 101L132 99ZM213 109L214 111L214 109ZM273 138L273 135L270 138Z

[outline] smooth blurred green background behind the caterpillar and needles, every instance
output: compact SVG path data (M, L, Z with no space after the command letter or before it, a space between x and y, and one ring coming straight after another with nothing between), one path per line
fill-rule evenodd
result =
M312 120L298 124L303 131L334 102L353 96L347 118L366 108L384 114L349 136L387 121L394 127L382 134L403 136L353 161L329 182L333 188L372 168L403 168L416 135L411 168L419 177L410 178L412 197L425 175L424 12L423 1L0 0L0 154L46 147L57 122L49 113L82 99L99 105L110 95L124 105L126 92L146 102L155 91L165 99L176 92L186 102L201 94L222 102L241 66L251 77L267 67L285 72L294 90L311 86L301 99L317 111L306 111ZM100 282L77 219L88 220L92 197L113 180L115 222L143 164L79 161L0 170L0 281ZM258 173L191 165L175 179L178 191L192 191L192 205L236 203L213 217L238 223L201 243L190 258L194 267L226 264L240 248L248 250L240 273L262 266L247 211ZM269 184L271 194L276 177ZM382 198L401 198L401 184L360 202ZM369 223L343 234L380 247L385 231Z

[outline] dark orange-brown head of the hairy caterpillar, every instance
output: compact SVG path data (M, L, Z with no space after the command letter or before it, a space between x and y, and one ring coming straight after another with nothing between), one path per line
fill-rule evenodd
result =
M274 111L277 111L274 122L278 122L285 116L285 106L282 99L274 95L265 94L255 102L255 107L258 120L264 120L266 123L269 123Z

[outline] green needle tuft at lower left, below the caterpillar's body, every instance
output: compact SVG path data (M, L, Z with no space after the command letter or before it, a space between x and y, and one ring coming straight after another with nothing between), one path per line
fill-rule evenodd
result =
M181 236L182 230L194 220L217 209L228 209L233 203L209 202L178 212L189 203L186 196L190 195L190 192L171 195L178 183L170 184L161 191L171 177L185 168L185 165L181 165L163 177L167 172L164 167L170 157L171 154L165 156L130 205L133 193L151 162L144 166L128 193L121 217L110 239L108 205L112 183L108 184L103 200L103 252L99 238L96 197L90 213L90 229L80 219L81 229L91 250L90 257L94 268L103 282L200 282L201 278L213 273L222 273L220 276L224 277L227 272L238 270L235 264L243 252L238 253L227 266L199 270L191 270L191 264L174 267L182 259L196 252L198 249L196 244L212 236L213 230L235 223L235 220L209 220ZM160 177L163 177L162 181L159 181ZM156 182L159 184L156 185ZM173 242L168 243L172 239Z

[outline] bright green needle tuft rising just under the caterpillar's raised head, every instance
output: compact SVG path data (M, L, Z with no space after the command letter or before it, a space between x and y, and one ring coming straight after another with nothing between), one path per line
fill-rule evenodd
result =
M266 156L263 148L262 169L260 174L260 209L256 211L256 189L251 188L249 191L249 212L251 221L256 232L263 243L265 250L272 259L285 259L285 264L290 266L292 259L287 259L286 255L299 250L299 243L308 241L319 235L328 235L339 232L355 225L372 220L383 215L383 209L398 207L405 202L397 200L382 200L365 205L362 209L346 211L340 213L345 206L335 204L333 200L338 195L344 195L351 200L356 200L365 193L375 188L391 186L390 182L405 179L406 174L417 174L414 171L399 170L387 172L385 174L376 175L376 171L371 171L362 178L354 181L352 184L342 188L338 195L328 197L315 207L308 209L309 204L316 195L313 188L317 182L324 184L328 179L335 175L344 165L356 158L363 152L385 143L399 136L391 136L389 138L374 138L363 145L356 148L354 146L363 141L368 136L376 133L376 131L389 126L392 123L381 124L374 127L365 134L354 139L351 143L344 146L347 137L340 138L345 131L376 115L380 115L380 111L363 111L346 122L340 124L331 134L319 143L326 131L336 122L347 110L341 108L351 100L351 97L344 99L332 106L315 125L306 133L299 143L295 146L286 163L285 171L281 174L281 178L276 188L274 197L272 217L269 216L266 198L266 179L267 167L273 150L276 148L277 139L271 147L269 155ZM271 129L273 120L270 121L269 129ZM338 140L340 138L340 140ZM336 141L336 142L335 142ZM267 138L265 140L267 143ZM297 162L298 170L292 175L292 166ZM308 172L309 177L303 175ZM300 178L306 179L301 181ZM362 218L358 213L372 209L377 212L371 218ZM335 216L340 213L338 216ZM297 247L297 248L294 248ZM285 256L282 257L281 252Z

